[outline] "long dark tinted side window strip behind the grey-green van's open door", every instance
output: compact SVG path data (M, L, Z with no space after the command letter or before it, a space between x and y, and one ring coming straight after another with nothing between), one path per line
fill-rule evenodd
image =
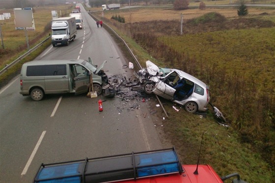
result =
M27 66L27 76L66 76L66 65Z

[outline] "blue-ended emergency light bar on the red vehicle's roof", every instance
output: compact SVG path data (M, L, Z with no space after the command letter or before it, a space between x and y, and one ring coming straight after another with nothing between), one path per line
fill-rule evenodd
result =
M172 173L183 168L175 148L43 164L34 183L102 183Z

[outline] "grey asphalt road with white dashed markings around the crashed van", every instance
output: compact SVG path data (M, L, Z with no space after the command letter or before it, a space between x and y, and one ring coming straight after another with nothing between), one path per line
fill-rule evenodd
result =
M36 60L91 57L98 65L107 60L108 76L131 78L133 70L122 68L128 61L108 32L82 14L84 27L76 40L69 46L50 46ZM163 148L148 101L138 103L140 109L130 109L131 101L118 97L91 99L86 94L48 95L35 102L19 91L19 76L0 90L0 183L30 183L41 163ZM103 112L99 99L106 100Z

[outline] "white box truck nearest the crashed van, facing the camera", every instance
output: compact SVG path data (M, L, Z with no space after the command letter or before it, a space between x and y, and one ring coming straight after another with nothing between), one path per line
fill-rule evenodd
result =
M52 44L69 45L77 36L77 26L75 17L61 17L52 20Z

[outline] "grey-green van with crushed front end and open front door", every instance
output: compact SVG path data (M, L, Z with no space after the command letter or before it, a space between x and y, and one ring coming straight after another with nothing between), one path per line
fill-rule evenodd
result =
M93 89L98 95L102 87L109 84L102 70L104 61L97 68L92 60L35 60L23 64L20 74L20 94L30 95L35 101L43 99L45 94L88 92L90 75Z

